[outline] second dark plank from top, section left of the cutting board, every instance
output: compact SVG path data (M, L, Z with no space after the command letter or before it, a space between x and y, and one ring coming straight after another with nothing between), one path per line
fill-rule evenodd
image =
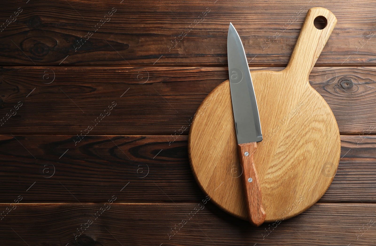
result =
M226 73L224 68L6 67L0 114L5 117L18 102L23 106L0 133L75 135L91 125L91 134L100 135L175 134ZM111 114L100 120L112 104Z

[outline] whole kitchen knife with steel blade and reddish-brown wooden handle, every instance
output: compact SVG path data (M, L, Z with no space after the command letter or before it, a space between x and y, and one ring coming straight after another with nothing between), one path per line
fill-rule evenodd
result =
M253 153L257 149L256 142L262 141L261 124L246 53L232 23L227 35L227 60L238 154L244 170L243 187L248 219L252 225L259 226L264 223L266 214L262 208L261 187L253 163Z

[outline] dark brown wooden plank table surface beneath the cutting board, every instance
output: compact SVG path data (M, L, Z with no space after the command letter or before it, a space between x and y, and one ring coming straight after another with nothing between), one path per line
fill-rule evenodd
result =
M251 69L280 70L315 6L338 19L309 81L337 119L340 164L313 207L254 228L196 184L190 120L228 78L230 21ZM375 245L375 8L2 1L1 245Z

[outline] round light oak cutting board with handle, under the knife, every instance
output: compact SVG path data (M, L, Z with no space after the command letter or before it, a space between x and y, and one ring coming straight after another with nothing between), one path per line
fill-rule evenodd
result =
M314 26L316 17L327 21L324 29ZM309 9L287 67L251 71L263 136L254 161L265 222L288 219L311 207L337 171L337 122L308 82L336 22L327 9ZM247 220L229 80L197 109L188 142L191 168L202 190L224 211Z

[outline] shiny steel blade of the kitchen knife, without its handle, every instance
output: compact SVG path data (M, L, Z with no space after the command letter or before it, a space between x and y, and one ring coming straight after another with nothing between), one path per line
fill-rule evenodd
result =
M260 142L260 118L247 57L238 32L231 23L227 35L227 60L238 144Z

